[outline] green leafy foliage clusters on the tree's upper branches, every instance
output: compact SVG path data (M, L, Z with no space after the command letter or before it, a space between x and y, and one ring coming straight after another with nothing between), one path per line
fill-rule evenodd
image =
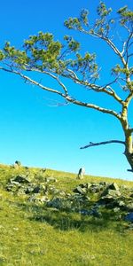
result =
M112 27L117 19L111 17L112 9L107 8L106 4L100 2L97 9L98 18L94 24L90 24L89 11L82 9L79 17L69 18L65 21L65 26L69 29L82 31L87 35L97 36L106 40L112 39ZM121 26L131 25L133 12L128 7L122 7L118 12ZM129 57L127 43L125 56ZM54 40L51 33L39 32L38 35L30 35L24 41L22 50L17 50L10 43L5 43L4 51L0 51L0 60L11 66L11 70L19 68L22 70L47 71L49 73L60 74L74 80L74 75L79 74L81 82L96 82L99 77L96 55L87 51L82 55L81 45L72 36L65 35L64 42ZM113 67L113 74L128 77L132 74L132 69L120 64ZM131 83L126 85L130 88Z

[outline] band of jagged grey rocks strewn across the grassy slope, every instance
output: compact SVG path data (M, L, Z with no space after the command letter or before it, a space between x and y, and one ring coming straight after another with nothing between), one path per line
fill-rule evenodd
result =
M51 176L13 176L6 184L8 192L23 195L30 202L44 204L81 215L93 215L101 218L106 209L112 211L116 219L133 223L133 188L106 182L79 184L71 192L62 191L56 185L58 181Z

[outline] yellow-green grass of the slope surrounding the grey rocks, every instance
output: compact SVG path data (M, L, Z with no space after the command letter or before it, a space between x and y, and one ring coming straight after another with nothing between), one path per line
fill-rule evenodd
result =
M34 174L37 171L30 169ZM120 222L113 219L104 222L46 209L4 191L6 181L18 172L25 169L0 165L0 265L133 265L132 231L119 230ZM52 170L47 174L55 176L59 180L56 186L67 192L81 183L74 174ZM82 183L101 180L105 178L85 176Z

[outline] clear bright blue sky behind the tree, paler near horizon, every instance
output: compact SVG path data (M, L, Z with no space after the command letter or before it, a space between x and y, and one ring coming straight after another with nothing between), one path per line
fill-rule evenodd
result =
M103 68L102 78L109 78L106 67L113 66L115 58L104 43L70 32L63 26L68 17L78 16L82 8L95 15L98 0L7 0L1 3L1 47L10 40L20 48L28 35L38 31L51 32L56 39L74 35L82 43L82 51L98 53ZM125 4L132 8L131 0L109 1L108 7L117 10ZM116 61L117 63L117 61ZM0 72L0 162L12 164L20 160L23 165L53 168L77 173L84 167L94 176L112 176L132 180L127 172L129 164L122 154L121 145L101 145L86 150L80 146L89 142L123 139L119 121L106 114L79 106L56 106L56 100L17 76ZM43 82L47 82L43 80ZM52 85L52 84L51 84ZM67 85L69 83L67 82ZM70 84L72 86L72 84ZM73 90L76 90L73 85ZM81 89L80 93L82 93ZM92 98L93 94L86 94ZM109 105L108 99L98 95L96 104ZM113 103L111 103L113 106ZM115 106L114 106L115 107ZM117 108L117 106L116 106ZM133 106L130 107L130 117Z

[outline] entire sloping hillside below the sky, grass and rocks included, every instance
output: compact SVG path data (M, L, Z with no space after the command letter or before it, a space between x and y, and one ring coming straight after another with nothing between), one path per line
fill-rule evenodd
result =
M133 183L0 165L0 265L133 265Z

